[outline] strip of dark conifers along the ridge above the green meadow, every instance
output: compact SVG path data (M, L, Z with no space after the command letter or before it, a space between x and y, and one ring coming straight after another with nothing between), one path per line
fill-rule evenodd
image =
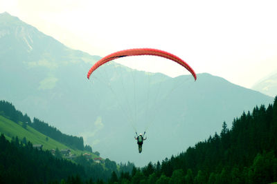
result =
M26 128L26 125L35 128L35 130L41 132L42 134L63 143L64 145L68 145L70 147L76 148L78 150L86 150L88 152L92 152L92 149L89 145L84 146L84 141L82 137L78 136L69 136L57 130L56 127L48 125L44 121L40 121L37 118L33 119L33 122L30 120L30 117L27 114L23 114L19 110L15 109L15 106L12 103L7 101L0 101L0 115L6 116L8 119L18 123L21 121L22 126Z

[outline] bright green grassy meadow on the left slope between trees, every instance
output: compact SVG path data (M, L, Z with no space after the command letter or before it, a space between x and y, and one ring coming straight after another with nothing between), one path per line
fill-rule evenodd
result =
M51 150L56 148L58 148L59 150L62 150L67 148L71 150L72 154L80 155L84 153L84 151L72 149L69 146L66 146L62 143L59 143L58 141L55 141L54 139L51 139L50 137L33 129L33 127L26 125L26 129L25 129L24 127L22 127L21 122L17 124L1 115L0 115L0 133L3 133L6 136L6 139L8 139L9 141L12 139L12 137L16 137L16 136L19 138L19 141L21 141L22 139L24 139L24 137L26 137L27 141L30 141L33 144L43 145L44 150ZM93 158L98 157L95 154L93 154L92 156Z

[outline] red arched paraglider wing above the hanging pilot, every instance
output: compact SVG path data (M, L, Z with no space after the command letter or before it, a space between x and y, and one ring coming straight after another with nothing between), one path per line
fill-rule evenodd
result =
M111 60L118 59L120 57L130 57L130 56L139 56L139 55L153 55L158 57L164 57L166 59L170 59L172 61L175 61L176 63L182 65L184 68L186 68L194 77L195 81L197 79L195 72L193 71L193 68L190 67L185 61L180 59L179 57L170 54L169 52L163 51L163 50L157 50L152 48L134 48L134 49L128 49L128 50L121 50L118 52L114 52L112 54L107 55L106 57L103 57L99 61L97 61L89 70L87 73L87 79L91 76L91 73L96 70L100 65L103 65Z

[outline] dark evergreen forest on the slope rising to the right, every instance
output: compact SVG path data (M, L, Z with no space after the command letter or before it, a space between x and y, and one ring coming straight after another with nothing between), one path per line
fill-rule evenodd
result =
M224 122L220 134L161 163L112 175L110 183L272 183L277 181L277 96Z

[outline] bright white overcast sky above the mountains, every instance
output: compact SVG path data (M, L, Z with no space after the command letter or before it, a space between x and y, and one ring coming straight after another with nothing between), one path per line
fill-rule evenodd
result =
M1 12L70 48L102 57L127 48L158 48L181 57L197 73L246 88L277 72L276 0L0 0ZM180 74L165 65L166 74Z

